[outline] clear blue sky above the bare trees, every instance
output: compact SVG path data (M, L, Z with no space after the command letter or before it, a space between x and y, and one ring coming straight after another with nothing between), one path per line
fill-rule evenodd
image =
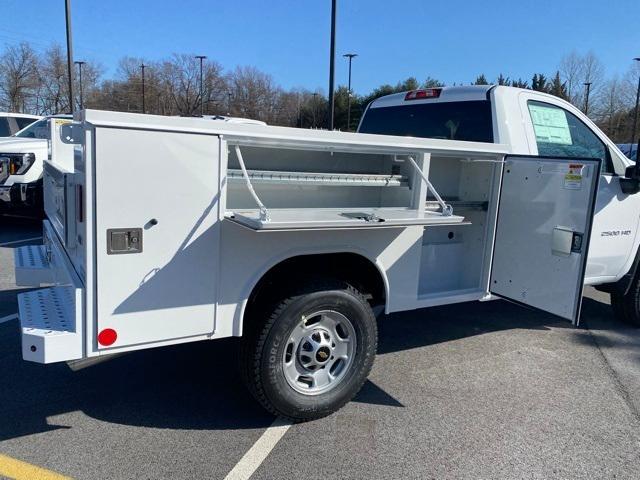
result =
M115 73L123 56L207 55L226 69L254 65L285 88L328 84L330 0L72 0L76 60ZM64 45L64 0L1 0L0 45ZM535 6L534 6L535 5ZM343 53L367 93L408 76L468 83L479 73L527 80L572 50L593 50L607 74L640 56L640 1L338 0L336 79Z

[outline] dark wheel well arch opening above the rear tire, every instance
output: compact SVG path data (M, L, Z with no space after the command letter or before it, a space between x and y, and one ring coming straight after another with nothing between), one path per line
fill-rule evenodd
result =
M283 260L262 276L249 296L245 318L252 307L264 301L277 301L288 288L309 277L344 280L357 288L372 306L385 303L382 274L368 258L357 253L300 255Z

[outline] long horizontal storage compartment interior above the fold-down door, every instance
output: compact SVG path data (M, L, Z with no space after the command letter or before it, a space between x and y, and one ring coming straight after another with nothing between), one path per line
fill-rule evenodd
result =
M268 209L410 208L415 175L394 155L241 147L251 183ZM256 208L229 148L227 210Z

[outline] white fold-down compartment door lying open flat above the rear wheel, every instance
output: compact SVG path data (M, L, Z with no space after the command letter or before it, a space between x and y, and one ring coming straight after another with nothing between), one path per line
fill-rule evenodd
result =
M464 224L464 217L458 215L445 217L436 212L394 208L270 209L269 220L261 219L260 212L257 209L228 211L225 216L232 222L256 231L335 230Z

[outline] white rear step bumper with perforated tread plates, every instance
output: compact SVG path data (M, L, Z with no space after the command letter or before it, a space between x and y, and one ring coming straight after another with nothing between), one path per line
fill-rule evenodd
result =
M37 363L84 356L84 288L51 225L44 222L44 245L15 249L16 283L40 287L18 295L22 356Z

